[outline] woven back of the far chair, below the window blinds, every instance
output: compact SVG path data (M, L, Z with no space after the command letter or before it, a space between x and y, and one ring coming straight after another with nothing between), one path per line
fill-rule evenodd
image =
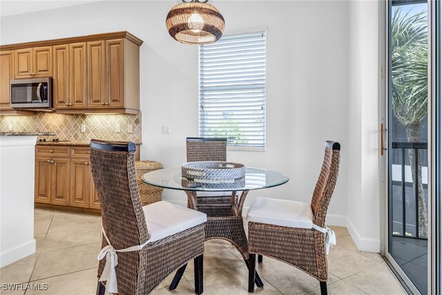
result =
M187 137L187 162L227 161L227 138Z

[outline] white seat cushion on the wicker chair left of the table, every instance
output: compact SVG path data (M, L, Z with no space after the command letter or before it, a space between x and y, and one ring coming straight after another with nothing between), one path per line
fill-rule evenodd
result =
M149 242L161 240L207 221L206 214L172 204L155 202L143 207Z

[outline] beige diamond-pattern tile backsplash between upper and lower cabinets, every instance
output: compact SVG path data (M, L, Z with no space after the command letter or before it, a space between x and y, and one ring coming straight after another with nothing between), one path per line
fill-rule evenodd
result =
M8 132L12 124L14 132L55 132L59 140L89 142L97 140L117 140L142 143L142 113L138 115L63 115L57 113L37 113L33 116L0 115L0 131ZM86 132L81 133L81 124ZM121 126L120 133L115 126ZM128 133L132 125L132 133Z

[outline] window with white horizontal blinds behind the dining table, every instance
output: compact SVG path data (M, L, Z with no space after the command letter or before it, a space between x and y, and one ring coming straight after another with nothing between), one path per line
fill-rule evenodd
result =
M200 136L265 148L265 32L200 46Z

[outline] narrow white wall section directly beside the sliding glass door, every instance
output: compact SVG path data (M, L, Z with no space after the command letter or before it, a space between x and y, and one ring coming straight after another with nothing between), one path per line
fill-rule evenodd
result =
M380 249L378 2L349 3L347 225L359 249Z

